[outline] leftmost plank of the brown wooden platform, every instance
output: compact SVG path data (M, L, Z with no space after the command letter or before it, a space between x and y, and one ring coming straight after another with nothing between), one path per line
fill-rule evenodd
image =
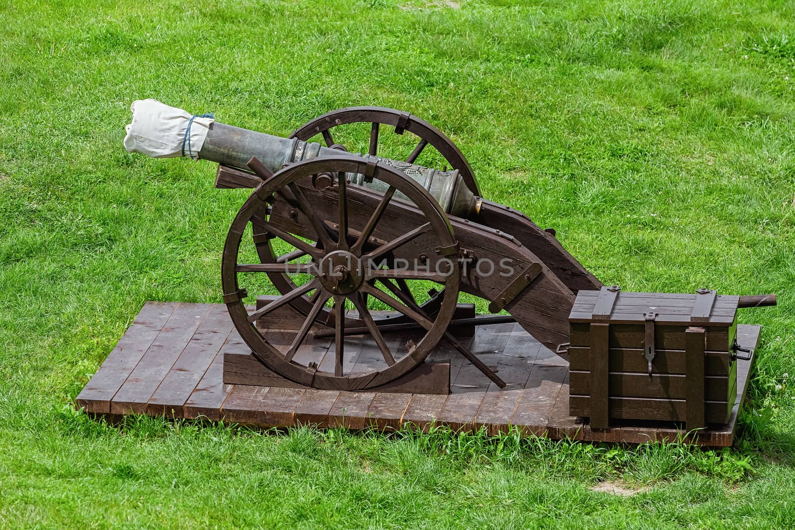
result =
M108 414L111 400L157 338L176 309L176 302L146 302L130 327L77 396L86 412Z

